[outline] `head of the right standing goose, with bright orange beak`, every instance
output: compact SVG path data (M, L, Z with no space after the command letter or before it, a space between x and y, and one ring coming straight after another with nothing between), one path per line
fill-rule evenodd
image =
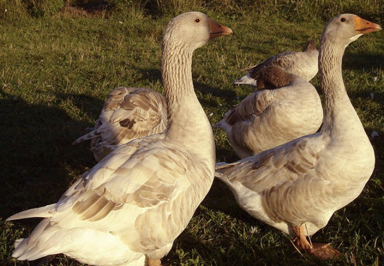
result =
M323 38L334 40L345 47L363 34L381 30L376 23L353 14L341 14L331 19L326 25Z

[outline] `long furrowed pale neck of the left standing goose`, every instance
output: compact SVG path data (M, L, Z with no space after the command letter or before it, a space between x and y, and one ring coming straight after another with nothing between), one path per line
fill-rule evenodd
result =
M163 41L161 73L168 100L167 137L191 150L213 153L214 140L209 120L192 83L191 47L177 41Z

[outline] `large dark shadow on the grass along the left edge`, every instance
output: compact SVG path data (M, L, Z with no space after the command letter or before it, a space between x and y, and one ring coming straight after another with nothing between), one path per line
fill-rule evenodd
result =
M0 94L0 217L5 219L56 202L94 159L88 149L71 145L83 122L57 107Z

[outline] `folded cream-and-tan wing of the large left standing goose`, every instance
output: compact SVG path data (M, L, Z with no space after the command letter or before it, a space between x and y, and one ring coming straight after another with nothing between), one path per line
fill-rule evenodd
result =
M122 153L123 148L117 152ZM125 159L122 156L115 160L116 157L115 152L108 155L63 195L56 204L56 211L64 216L57 218L62 226L70 228L87 223L92 228L103 229L110 219L119 217L125 221L125 226L121 226L126 228L127 224L135 223L134 213L157 208L174 199L174 193L190 186L190 181L182 178L188 160L180 159L188 155L172 146L159 148L149 143L146 149L131 152Z

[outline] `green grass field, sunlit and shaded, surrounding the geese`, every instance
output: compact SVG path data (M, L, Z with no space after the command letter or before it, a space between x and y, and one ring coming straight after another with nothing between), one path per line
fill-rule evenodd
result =
M247 1L230 0L222 5L173 1L169 8L164 7L167 1L126 1L135 7L132 9L116 0L107 1L111 7L79 10L89 8L87 2L91 1L72 1L59 11L44 7L48 13L33 13L21 0L11 7L9 0L0 2L0 12L8 4L8 14L0 15L0 265L35 265L15 261L11 253L14 240L28 236L39 219L4 220L18 211L56 202L79 174L95 165L88 143L70 143L93 126L109 91L118 86L162 91L161 38L175 13L196 5L195 10L235 32L194 54L196 95L206 113L212 114L212 123L251 92L249 87L231 85L243 74L240 69L282 51L299 50L308 38L318 42L324 23L338 12L360 12L363 18L384 22L383 1L366 1L367 5L345 1L344 6L316 1L313 13L308 11L308 1L289 0L276 4L264 0L260 7L252 2L250 11ZM155 9L149 7L151 3ZM325 12L327 4L332 8ZM379 133L371 139L376 167L366 188L312 237L317 242L332 242L344 256L321 262L298 254L290 236L250 217L237 206L227 187L215 180L164 263L383 265L383 32L349 45L343 76L368 136L372 131ZM313 83L319 88L317 77ZM225 134L217 129L214 134L217 160L236 160ZM50 264L80 265L63 255Z

